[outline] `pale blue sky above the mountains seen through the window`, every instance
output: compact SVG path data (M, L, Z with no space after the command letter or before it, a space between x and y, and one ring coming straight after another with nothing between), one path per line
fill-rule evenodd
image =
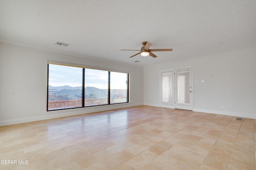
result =
M111 72L111 88L126 89L126 74ZM82 68L49 64L50 86L82 86ZM85 73L85 87L91 86L108 89L108 71L87 69Z

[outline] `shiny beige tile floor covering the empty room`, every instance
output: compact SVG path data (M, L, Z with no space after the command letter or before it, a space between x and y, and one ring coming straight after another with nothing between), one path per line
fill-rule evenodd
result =
M2 126L0 169L255 170L256 120L235 118L138 106Z

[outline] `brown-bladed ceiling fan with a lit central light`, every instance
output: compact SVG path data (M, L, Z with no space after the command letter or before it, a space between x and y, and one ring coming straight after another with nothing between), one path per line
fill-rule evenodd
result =
M143 46L141 47L140 50L126 50L126 51L140 51L140 53L137 53L136 55L140 54L140 55L142 55L144 57L150 55L150 56L152 56L154 58L156 58L157 56L154 55L153 53L151 53L151 51L172 51L172 49L149 49L149 47L151 46L151 43L148 43L146 41L143 41L142 45ZM132 58L132 57L134 57L136 55L133 55L130 58Z

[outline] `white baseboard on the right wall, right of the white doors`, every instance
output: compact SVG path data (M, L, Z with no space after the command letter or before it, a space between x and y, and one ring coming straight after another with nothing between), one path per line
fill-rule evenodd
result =
M238 112L208 110L208 109L198 109L198 108L194 108L193 111L219 114L219 115L228 115L228 116L234 116L234 117L243 117L243 118L249 118L249 119L256 119L256 114L254 115L254 114L248 114L248 113L238 113Z

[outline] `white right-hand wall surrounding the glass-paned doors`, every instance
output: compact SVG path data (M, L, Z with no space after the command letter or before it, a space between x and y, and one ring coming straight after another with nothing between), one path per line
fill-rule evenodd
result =
M256 119L256 49L145 66L144 104L160 106L160 70L187 67L194 76L193 111Z

